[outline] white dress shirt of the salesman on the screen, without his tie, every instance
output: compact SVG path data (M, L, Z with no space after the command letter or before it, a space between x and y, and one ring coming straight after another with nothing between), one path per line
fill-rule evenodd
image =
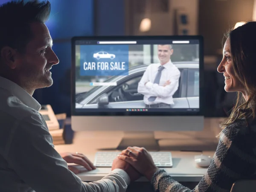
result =
M157 103L174 104L172 96L179 86L180 70L170 60L163 65L165 69L162 70L160 83L154 84L154 79L160 66L161 64L150 64L139 82L138 93L144 95L144 102L147 105ZM171 81L171 84L163 87L168 80ZM154 102L148 101L151 96L157 96Z

